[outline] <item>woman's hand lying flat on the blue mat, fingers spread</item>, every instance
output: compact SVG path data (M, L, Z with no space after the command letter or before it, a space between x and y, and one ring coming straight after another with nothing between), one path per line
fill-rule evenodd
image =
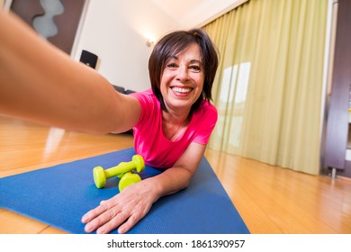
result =
M120 226L119 233L127 232L148 213L157 199L154 194L148 180L126 187L121 193L100 202L98 207L85 213L82 218L82 222L86 223L85 231L109 233Z

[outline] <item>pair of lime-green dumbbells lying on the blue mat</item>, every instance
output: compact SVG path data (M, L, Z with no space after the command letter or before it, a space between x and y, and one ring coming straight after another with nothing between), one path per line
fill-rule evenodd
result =
M136 174L145 169L144 159L140 155L134 155L130 162L121 162L118 166L113 166L108 169L103 169L102 166L96 166L93 169L94 183L97 188L103 188L106 185L106 180L113 176L118 176L120 182L118 188L120 192L130 184L136 184L141 180L141 177Z

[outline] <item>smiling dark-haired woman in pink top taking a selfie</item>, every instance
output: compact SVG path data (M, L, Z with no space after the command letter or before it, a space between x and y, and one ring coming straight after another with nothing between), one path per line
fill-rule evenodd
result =
M119 94L16 17L0 14L1 113L94 133L133 128L136 152L149 166L165 169L88 211L82 218L86 232L119 227L125 233L157 199L187 187L217 121L209 102L217 66L204 31L175 31L157 42L149 58L152 89Z

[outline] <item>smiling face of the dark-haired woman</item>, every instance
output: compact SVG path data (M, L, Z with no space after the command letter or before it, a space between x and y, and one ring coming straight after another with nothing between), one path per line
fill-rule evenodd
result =
M192 44L169 58L161 76L160 90L168 112L191 109L202 94L203 67L200 48Z

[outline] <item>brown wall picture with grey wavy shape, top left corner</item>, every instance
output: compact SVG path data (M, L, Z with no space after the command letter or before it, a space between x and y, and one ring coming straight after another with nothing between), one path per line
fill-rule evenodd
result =
M84 22L89 0L0 0L4 11L18 15L42 38L68 55L76 52L75 41ZM46 16L46 17L45 17ZM48 18L49 17L49 18ZM53 18L55 17L55 18Z

